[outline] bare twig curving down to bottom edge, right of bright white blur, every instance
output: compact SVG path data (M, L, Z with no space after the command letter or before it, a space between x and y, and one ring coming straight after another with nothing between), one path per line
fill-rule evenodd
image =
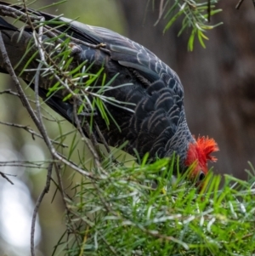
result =
M42 202L43 197L45 194L48 193L49 191L49 186L50 186L50 179L51 179L51 174L52 174L52 168L53 168L53 162L51 162L48 165L48 173L47 173L47 179L46 179L46 184L44 186L44 189L42 190L42 193L37 199L36 206L34 208L34 212L32 215L32 221L31 221L31 256L35 256L35 230L36 230L36 220L37 220L37 213L38 213L38 208Z

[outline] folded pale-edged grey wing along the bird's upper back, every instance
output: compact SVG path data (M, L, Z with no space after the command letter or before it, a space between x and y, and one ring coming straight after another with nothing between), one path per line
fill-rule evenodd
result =
M88 43L105 43L110 51L111 59L116 60L120 65L139 71L149 82L162 81L166 87L183 98L184 88L178 78L178 75L168 65L161 61L156 54L153 54L147 48L135 43L127 37L97 26L88 26L78 21L70 22L73 37L77 37Z

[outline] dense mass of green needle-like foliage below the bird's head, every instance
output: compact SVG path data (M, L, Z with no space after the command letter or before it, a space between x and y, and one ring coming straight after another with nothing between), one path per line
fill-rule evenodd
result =
M254 251L254 177L246 182L226 175L220 189L221 177L210 173L199 192L185 175L173 179L173 159L131 168L106 162L103 172L94 168L94 178L82 179L66 199L68 236L59 240L66 255Z

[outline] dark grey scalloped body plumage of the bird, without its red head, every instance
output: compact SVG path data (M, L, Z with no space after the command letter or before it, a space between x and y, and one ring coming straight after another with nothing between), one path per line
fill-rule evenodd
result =
M6 3L0 1L0 4ZM45 20L54 19L54 16L50 14L35 13L42 15ZM106 82L118 73L116 79L111 83L112 87L130 83L105 93L116 100L134 104L134 106L128 105L133 112L107 105L119 124L121 132L113 122L111 122L110 128L107 128L100 115L94 117L109 145L122 145L128 140L126 151L133 154L133 149L136 149L141 157L146 152L149 152L151 157L163 157L171 156L173 151L176 151L180 156L181 165L184 166L188 146L190 142L194 143L195 139L187 126L184 113L184 88L178 75L150 50L139 43L134 43L127 37L122 37L105 28L88 26L65 18L57 20L66 22L65 26L59 28L59 31L66 32L83 42L94 45L105 44L102 48L89 48L83 44L74 43L73 65L88 60L87 65L94 63L92 68L94 72L99 71L104 65ZM27 44L32 37L31 30L26 28L20 35L20 31L2 18L0 29L9 58L12 64L16 65L24 57ZM18 37L20 37L19 40ZM26 55L26 58L22 60L22 65L26 64L32 54L31 51ZM6 72L2 56L0 64L1 71ZM17 74L22 70L22 65L17 68ZM34 60L28 67L35 68L36 66L37 61ZM26 82L31 82L33 76L33 72L26 72L21 78ZM46 98L50 85L47 78L41 79L39 94L43 99ZM72 122L72 102L71 100L62 102L61 97L63 98L63 95L54 94L46 102L60 115Z

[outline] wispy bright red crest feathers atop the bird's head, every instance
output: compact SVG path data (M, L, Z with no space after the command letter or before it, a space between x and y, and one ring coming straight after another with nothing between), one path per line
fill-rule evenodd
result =
M208 137L198 137L196 139L197 146L204 152L206 159L213 162L217 161L215 156L210 156L212 152L218 151L218 145L214 139L209 139Z

